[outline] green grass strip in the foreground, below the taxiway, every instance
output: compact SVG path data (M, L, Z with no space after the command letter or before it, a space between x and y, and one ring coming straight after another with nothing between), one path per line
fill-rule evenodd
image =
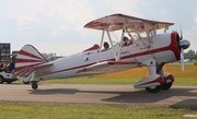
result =
M0 102L0 119L184 119L197 105L125 105Z

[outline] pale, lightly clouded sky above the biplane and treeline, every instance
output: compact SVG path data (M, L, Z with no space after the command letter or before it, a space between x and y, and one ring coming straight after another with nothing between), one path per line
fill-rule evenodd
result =
M88 22L114 13L173 22L169 32L182 27L187 50L197 51L197 0L0 0L0 40L11 50L31 44L70 56L100 44L102 32L84 28Z

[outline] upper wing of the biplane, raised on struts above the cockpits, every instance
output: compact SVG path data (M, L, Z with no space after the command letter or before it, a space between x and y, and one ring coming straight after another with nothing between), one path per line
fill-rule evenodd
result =
M112 14L108 16L104 16L94 21L89 22L84 25L84 27L93 28L93 29L108 29L108 31L118 31L123 29L124 23L127 22L127 28L132 32L144 32L144 24L147 23L149 31L154 29L154 25L157 29L169 27L174 25L174 23L170 22L159 22L153 20L144 20L135 16L129 16L125 14Z

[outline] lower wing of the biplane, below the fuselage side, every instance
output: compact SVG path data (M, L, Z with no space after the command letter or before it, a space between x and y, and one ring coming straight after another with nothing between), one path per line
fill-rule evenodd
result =
M86 67L78 73L80 74L101 74L101 73L111 73L121 70L127 70L130 68L139 67L141 62L135 61L104 61Z

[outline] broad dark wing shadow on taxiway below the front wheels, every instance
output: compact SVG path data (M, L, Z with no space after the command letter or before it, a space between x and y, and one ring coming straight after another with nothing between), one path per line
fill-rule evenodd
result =
M159 93L147 93L143 91L137 91L137 92L130 92L130 93L124 93L121 92L119 96L105 98L102 100L105 102L115 102L115 103L135 103L135 104L141 104L141 103L158 103L160 100L164 100L171 97L175 96L195 96L197 97L197 94L189 93L192 88L172 88L169 91L160 91ZM197 102L197 98L195 99ZM194 104L194 102L179 102L178 104Z

